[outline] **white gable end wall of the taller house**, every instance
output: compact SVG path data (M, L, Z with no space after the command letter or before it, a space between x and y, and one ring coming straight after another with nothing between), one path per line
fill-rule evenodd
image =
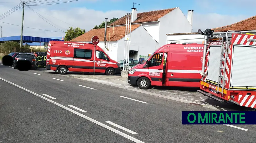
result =
M191 24L179 7L158 19L158 21L160 21L159 47L166 44L166 34L191 33L192 30Z

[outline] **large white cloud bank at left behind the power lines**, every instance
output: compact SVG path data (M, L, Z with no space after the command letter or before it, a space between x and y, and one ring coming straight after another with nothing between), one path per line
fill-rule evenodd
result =
M15 0L16 2L20 2L19 0ZM95 0L93 0L95 1ZM13 2L13 1L11 1ZM4 3L5 4L5 3ZM7 12L14 6L18 5L15 4L5 4L3 5L0 3L0 16L1 14ZM102 21L105 21L105 18L113 18L113 17L122 17L126 14L125 11L122 10L110 10L107 12L96 11L93 9L88 9L86 7L80 8L59 8L56 10L54 7L47 7L43 6L30 6L33 10L38 12L38 14L42 15L45 20L61 29L62 31L66 31L72 25L85 29L86 31L91 30L95 25L99 25ZM40 10L40 11L39 11ZM49 16L50 15L50 16ZM6 23L11 23L15 25L21 25L21 16L22 16L22 8L14 12L13 14L7 16L6 18L0 20L0 25L3 26L3 37L6 36L16 36L20 35L21 27L9 25ZM55 18L53 18L55 17ZM56 19L57 18L57 19ZM1 19L1 17L0 17ZM60 21L60 20L64 21ZM36 29L30 29L25 27L32 27L37 29L45 29L51 31L60 31L57 28L51 26L42 18L40 18L37 14L35 14L32 10L30 10L27 6L24 9L24 28L23 28L23 35L26 36L40 36L40 37L53 37L53 36L65 36L65 33L57 33L57 32L49 32L49 31L42 31ZM65 23L66 22L66 23ZM54 24L53 24L54 23ZM69 25L69 24L71 25ZM73 26L73 27L74 27Z

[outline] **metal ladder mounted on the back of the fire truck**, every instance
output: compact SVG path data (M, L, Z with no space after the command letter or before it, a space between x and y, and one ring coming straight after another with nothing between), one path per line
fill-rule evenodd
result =
M219 34L219 41L221 42L221 55L220 55L220 66L219 66L219 77L218 77L218 90L219 87L222 88L221 94L223 96L224 86L226 85L226 66L227 66L227 57L229 52L229 46L232 40L232 33L241 33L241 31L227 31L226 33ZM224 34L224 36L221 36ZM225 42L225 43L224 43ZM224 63L223 63L224 62ZM222 74L223 70L223 74ZM222 81L222 82L221 82Z

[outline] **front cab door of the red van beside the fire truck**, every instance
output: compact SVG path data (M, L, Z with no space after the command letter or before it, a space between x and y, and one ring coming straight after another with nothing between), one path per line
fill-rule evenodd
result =
M149 67L147 68L147 73L151 78L151 85L162 86L163 81L163 68L164 60L160 61L160 56L164 55L164 52L155 53L149 60Z

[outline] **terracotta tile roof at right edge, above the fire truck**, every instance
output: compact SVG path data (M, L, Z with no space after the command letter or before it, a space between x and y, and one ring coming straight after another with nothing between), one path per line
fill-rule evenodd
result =
M239 22L231 24L231 25L214 28L212 30L214 30L214 32L224 32L224 31L228 31L228 30L235 30L235 31L256 30L256 16L247 18L245 20L239 21Z

